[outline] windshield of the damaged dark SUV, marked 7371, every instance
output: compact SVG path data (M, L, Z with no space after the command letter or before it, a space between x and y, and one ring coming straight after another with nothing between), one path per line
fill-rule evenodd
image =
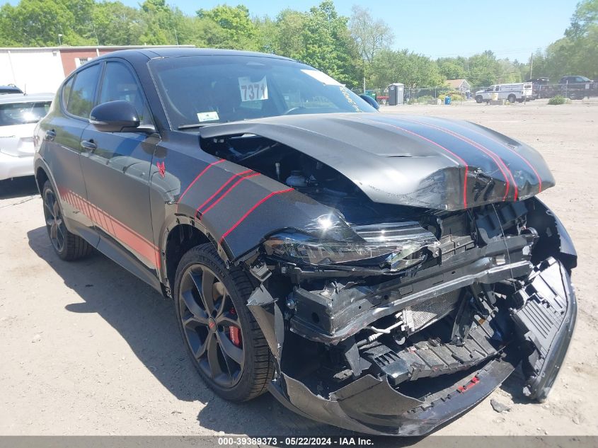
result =
M190 56L149 62L173 129L306 113L376 112L321 71L255 56Z

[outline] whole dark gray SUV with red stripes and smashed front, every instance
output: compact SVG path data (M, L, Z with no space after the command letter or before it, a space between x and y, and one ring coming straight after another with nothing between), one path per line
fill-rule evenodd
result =
M269 54L93 59L35 132L50 242L172 299L192 363L331 425L422 435L521 364L543 401L577 305L575 248L531 147L378 113Z

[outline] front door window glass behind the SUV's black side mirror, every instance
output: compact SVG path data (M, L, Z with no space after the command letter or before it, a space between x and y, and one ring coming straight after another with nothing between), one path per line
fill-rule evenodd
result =
M149 110L144 93L131 71L120 62L108 62L104 70L99 104L123 100L134 105L139 121L149 124Z

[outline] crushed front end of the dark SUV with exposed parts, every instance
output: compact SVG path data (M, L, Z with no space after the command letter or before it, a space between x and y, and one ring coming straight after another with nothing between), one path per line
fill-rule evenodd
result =
M543 401L577 310L577 255L558 218L535 197L404 207L394 221L355 210L272 234L243 259L260 284L248 306L276 360L272 394L384 435L430 432L519 363L524 394Z

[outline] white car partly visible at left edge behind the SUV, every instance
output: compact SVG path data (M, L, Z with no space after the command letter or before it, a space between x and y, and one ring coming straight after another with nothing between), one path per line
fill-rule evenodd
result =
M0 180L33 176L33 130L53 99L52 93L0 96Z

